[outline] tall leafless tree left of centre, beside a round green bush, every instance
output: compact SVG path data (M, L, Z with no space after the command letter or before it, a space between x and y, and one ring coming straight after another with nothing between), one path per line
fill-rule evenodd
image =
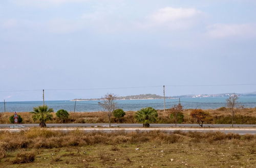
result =
M98 102L98 104L106 111L108 112L109 117L109 124L111 127L111 116L113 111L116 109L116 95L114 94L106 94L104 97L102 97L103 101Z

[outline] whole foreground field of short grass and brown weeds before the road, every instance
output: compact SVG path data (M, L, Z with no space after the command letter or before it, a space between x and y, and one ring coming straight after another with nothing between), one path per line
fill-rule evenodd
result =
M0 150L2 167L253 167L256 135L31 129L0 132Z

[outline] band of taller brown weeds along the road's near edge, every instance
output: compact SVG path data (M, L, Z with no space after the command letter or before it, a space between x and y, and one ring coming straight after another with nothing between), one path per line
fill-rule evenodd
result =
M153 142L158 144L190 143L223 143L223 142L256 142L256 135L239 135L222 132L181 132L166 133L161 131L149 132L60 132L46 129L30 129L26 132L0 132L0 149L52 149L75 147L94 144L118 145Z

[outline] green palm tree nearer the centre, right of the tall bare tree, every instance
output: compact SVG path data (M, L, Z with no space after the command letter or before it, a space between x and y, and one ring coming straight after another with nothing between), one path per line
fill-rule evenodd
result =
M150 123L155 122L157 117L157 110L152 107L141 108L135 115L137 121L143 123L143 127L150 127Z

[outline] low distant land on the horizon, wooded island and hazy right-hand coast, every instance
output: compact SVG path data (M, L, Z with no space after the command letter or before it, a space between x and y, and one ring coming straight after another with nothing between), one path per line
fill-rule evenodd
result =
M222 94L199 94L199 95L181 95L181 96L165 96L166 99L175 99L175 98L203 98L203 97L229 97L234 93L222 93ZM237 94L237 93L236 93ZM238 96L256 96L256 93L248 94L237 94ZM118 96L117 100L140 100L140 99L163 99L163 96L156 94L140 94L140 95L131 95L131 96ZM73 99L71 101L88 101L88 100L102 100L102 98L96 99Z

